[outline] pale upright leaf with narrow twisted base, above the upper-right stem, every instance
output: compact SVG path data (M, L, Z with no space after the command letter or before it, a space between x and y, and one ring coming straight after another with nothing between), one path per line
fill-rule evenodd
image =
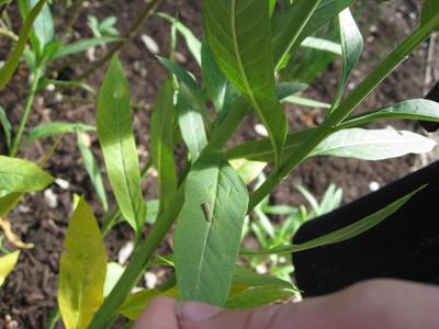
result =
M350 13L349 8L345 9L338 15L340 24L340 37L341 37L341 49L342 49L342 77L340 87L337 90L336 98L333 102L333 109L336 109L340 103L345 93L346 87L348 86L350 75L356 68L360 60L361 53L363 50L363 37L360 30Z

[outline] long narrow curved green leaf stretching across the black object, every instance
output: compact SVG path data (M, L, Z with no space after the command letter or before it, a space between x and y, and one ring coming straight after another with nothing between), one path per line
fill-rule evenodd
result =
M417 189L416 191L396 200L395 202L391 203L386 207L382 208L381 211L367 216L365 218L350 224L341 229L336 231L329 232L316 239L306 241L301 245L292 245L292 246L281 246L275 247L272 249L260 250L260 251L252 251L252 250L245 250L241 252L241 256L254 256L254 254L284 254L284 253L292 253L292 252L300 252L309 250L317 247L334 245L338 242L342 242L354 238L369 229L375 227L383 220L385 220L389 216L397 212L403 205L405 205L416 193L418 193L425 186Z

